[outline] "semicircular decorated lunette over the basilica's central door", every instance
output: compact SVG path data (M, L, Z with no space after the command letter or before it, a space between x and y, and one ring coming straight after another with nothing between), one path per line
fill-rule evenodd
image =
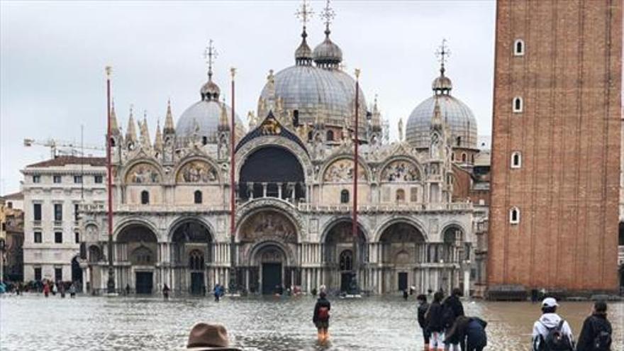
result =
M262 211L248 218L243 225L241 241L255 242L266 239L278 240L282 243L296 243L294 225L281 213Z

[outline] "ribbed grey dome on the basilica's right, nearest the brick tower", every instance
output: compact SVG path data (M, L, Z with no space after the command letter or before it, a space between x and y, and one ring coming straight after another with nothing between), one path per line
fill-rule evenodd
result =
M476 149L477 118L466 104L447 94L431 96L413 109L406 125L407 142L416 148L429 147L435 99L438 99L443 121L449 128L452 147Z

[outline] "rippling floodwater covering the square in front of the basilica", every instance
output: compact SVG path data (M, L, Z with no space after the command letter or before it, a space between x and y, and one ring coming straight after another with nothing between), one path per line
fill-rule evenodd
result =
M0 350L182 350L199 321L225 325L245 350L422 350L414 296L330 299L330 343L316 343L311 296L171 299L40 294L0 297ZM563 302L578 337L591 302ZM486 350L530 350L531 303L464 301L468 316L488 321ZM612 350L624 350L624 303L609 304Z

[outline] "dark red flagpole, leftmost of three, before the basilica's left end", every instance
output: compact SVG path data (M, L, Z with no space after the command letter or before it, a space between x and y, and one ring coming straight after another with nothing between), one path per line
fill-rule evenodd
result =
M108 282L106 292L115 294L115 269L113 268L113 167L111 165L111 72L106 66L106 193L108 194Z

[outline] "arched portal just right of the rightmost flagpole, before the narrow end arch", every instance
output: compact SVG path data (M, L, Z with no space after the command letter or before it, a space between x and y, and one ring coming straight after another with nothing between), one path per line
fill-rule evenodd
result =
M389 225L379 237L383 265L382 292L402 291L423 284L417 270L425 256L425 236L411 223ZM423 291L424 289L420 289Z

